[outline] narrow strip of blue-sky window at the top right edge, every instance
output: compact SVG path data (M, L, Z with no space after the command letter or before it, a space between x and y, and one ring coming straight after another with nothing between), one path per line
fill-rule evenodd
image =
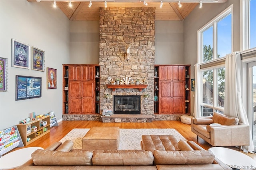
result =
M256 47L256 0L250 0L250 48Z

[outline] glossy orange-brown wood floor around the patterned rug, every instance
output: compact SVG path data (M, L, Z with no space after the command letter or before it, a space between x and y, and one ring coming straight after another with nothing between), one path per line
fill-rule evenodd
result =
M57 142L60 139L62 139L73 128L91 128L92 126L117 126L119 128L174 128L182 136L184 136L184 138L186 138L187 140L193 140L194 142L202 146L202 148L208 149L212 147L210 144L205 142L200 137L198 138L198 141L196 140L196 134L191 132L190 124L183 124L180 121L174 121L174 120L153 121L150 123L103 123L100 121L62 121L58 123L58 126L52 127L50 130L50 133L42 136L35 142L32 142L31 144L25 147L39 146L42 148L47 148L54 142ZM231 148L238 151L238 148L236 147L227 147L227 148ZM20 149L20 148L15 148L14 150L17 150L17 149ZM256 161L256 154L248 153L247 155Z

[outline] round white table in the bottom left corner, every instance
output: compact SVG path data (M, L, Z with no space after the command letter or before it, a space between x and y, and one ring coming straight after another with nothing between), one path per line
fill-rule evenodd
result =
M0 170L18 168L31 159L31 154L41 147L28 147L10 152L0 158Z

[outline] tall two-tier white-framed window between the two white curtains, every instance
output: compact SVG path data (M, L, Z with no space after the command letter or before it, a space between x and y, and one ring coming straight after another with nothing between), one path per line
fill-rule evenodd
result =
M223 113L225 56L232 53L232 5L198 30L201 115Z

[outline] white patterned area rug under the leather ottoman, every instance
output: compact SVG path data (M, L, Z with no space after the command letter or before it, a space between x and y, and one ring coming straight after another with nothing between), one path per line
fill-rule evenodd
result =
M74 149L82 149L82 138L90 129L72 129L60 142L72 140ZM174 135L177 140L186 140L175 129L121 129L120 128L120 143L119 150L136 149L140 150L141 136L144 134L156 135Z

